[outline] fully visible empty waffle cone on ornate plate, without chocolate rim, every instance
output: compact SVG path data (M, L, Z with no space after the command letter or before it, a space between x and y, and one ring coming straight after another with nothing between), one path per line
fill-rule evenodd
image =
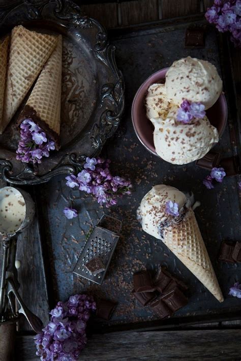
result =
M12 30L5 90L3 129L6 128L56 46L57 37L25 29ZM2 134L2 133L1 133Z

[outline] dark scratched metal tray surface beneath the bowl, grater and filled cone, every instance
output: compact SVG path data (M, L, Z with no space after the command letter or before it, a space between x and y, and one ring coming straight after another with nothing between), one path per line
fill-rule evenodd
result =
M241 265L225 264L217 260L222 240L240 240L238 177L226 177L215 189L207 190L202 185L203 178L208 174L207 170L195 166L194 162L185 166L174 166L150 154L139 143L131 122L131 104L140 84L150 74L168 67L180 57L191 55L209 60L216 65L224 80L227 77L227 73L223 73L223 59L218 56L215 29L207 27L204 49L184 49L188 25L173 24L166 28L126 32L125 35L112 39L116 46L117 65L125 78L127 106L116 135L108 141L102 154L112 160L113 173L132 180L133 194L120 200L118 206L106 211L91 197L68 188L64 176L55 177L48 184L42 185L38 194L41 202L39 206L41 204L43 209L45 240L49 249L49 277L54 278L56 300L64 301L71 294L88 291L95 296L118 301L109 325L150 321L146 326L152 327L154 324L171 325L182 320L208 321L214 317L221 320L241 310L240 301L228 296L229 287L240 277ZM229 99L228 90L225 89L225 93L230 107L233 99ZM233 107L233 104L231 106ZM229 133L235 119L229 117L228 123L222 139L214 148L222 153L222 157L235 155L236 152ZM182 190L192 190L195 199L201 202L195 215L225 297L222 304L162 242L142 232L136 220L136 209L143 195L153 185L160 183ZM79 215L73 220L67 220L63 209L71 205L79 210ZM100 286L77 277L72 271L85 243L86 234L104 212L120 219L123 229L106 278ZM167 266L170 272L189 285L189 303L168 321L155 323L158 317L148 307L140 306L131 294L132 274L145 268L155 273L160 264Z

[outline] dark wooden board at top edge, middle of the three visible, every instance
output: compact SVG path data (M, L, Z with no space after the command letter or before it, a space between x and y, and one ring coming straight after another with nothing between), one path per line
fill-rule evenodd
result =
M129 1L119 4L120 25L138 24L159 19L158 0Z

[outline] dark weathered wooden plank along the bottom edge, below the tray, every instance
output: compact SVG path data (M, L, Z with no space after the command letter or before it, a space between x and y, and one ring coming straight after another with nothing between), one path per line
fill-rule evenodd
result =
M81 360L238 360L241 330L113 333L92 336ZM18 337L18 359L33 361L32 336Z

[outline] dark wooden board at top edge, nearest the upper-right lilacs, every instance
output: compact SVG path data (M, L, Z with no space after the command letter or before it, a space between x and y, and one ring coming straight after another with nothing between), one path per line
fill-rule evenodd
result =
M190 15L200 12L199 0L162 0L162 18Z

